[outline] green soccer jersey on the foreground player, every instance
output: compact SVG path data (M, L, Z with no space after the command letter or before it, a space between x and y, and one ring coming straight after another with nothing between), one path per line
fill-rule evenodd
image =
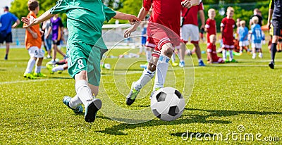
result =
M105 20L114 17L116 12L105 6L102 0L59 0L49 11L51 14L66 13L68 43L84 42L106 49L102 39L102 25Z

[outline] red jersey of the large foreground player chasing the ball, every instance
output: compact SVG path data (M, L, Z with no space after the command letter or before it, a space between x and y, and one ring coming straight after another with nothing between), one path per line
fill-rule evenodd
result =
M180 34L180 11L182 0L143 0L145 11L149 11L153 5L149 22L164 25L176 34Z

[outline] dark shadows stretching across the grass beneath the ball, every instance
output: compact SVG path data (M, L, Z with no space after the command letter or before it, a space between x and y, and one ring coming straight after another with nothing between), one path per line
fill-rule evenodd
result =
M106 128L105 130L99 130L96 132L105 133L105 134L114 134L114 135L128 135L128 134L123 133L122 131L127 130L127 129L135 129L137 127L152 127L152 126L159 126L159 125L181 125L181 124L190 124L190 123L204 123L204 124L207 124L207 123L230 124L232 123L229 120L207 120L207 118L215 117L215 116L221 117L221 116L232 116L232 115L239 115L239 114L257 114L257 115L280 114L282 115L282 113L279 113L279 112L265 112L265 111L226 111L226 110L204 110L204 109L197 109L197 108L185 108L185 110L204 111L204 112L208 112L209 114L208 115L183 115L178 120L173 120L170 122L166 122L162 120L150 120L148 122L143 122L140 124L121 123L120 125L114 125L112 127ZM97 116L97 118L111 120L111 118L106 118L102 116ZM183 132L178 132L176 134L171 134L171 135L181 137L182 134ZM201 133L201 134L205 134L205 133Z

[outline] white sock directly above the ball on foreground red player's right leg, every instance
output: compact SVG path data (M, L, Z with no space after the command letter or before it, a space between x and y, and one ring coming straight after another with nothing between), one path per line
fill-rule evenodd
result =
M164 81L166 80L166 73L168 70L168 61L170 58L161 54L159 56L159 61L157 63L157 73L156 78L154 79L154 89L159 89L164 87Z

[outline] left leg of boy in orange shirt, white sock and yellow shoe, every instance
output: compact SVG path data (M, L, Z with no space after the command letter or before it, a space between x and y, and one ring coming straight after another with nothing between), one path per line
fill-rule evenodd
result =
M25 73L23 77L27 77L29 79L35 79L35 76L32 75L32 69L35 66L37 58L35 57L38 53L38 48L36 46L32 46L28 49L28 53L30 54L30 60L27 62L27 68L25 69Z

